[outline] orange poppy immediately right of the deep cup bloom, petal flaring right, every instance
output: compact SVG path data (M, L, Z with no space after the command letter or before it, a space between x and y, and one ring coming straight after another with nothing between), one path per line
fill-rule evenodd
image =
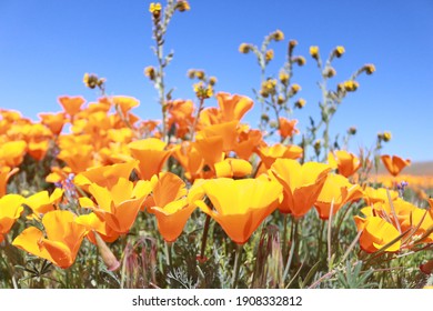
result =
M341 174L330 173L326 177L314 207L321 219L329 219L332 204L332 214L334 215L345 203L355 201L362 197L363 192L359 184L350 183Z

